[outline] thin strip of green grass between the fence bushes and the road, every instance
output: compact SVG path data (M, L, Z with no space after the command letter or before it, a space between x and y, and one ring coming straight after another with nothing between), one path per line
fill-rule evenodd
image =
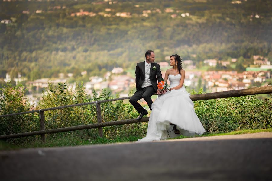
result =
M228 133L208 133L200 136L179 136L177 138L169 138L169 139L183 139L183 138L192 138L192 137L204 137L204 136L219 136L219 135L238 135L238 134L246 134L246 133L258 133L258 132L272 132L272 128L268 129L244 129L239 131L233 131ZM37 137L39 138L39 137ZM78 146L78 145L90 145L90 144L107 144L107 143L123 143L123 142L133 142L141 139L136 136L130 136L127 138L96 138L94 140L88 140L85 138L81 138L77 135L63 135L63 136L50 136L46 138L46 142L42 143L40 139L36 139L32 142L22 143L22 144L9 144L5 141L0 141L0 150L14 150L20 148L42 148L42 147L63 147L63 146Z

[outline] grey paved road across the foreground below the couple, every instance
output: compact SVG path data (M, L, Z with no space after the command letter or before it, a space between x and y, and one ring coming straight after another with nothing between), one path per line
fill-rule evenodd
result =
M272 180L272 133L1 151L0 178Z

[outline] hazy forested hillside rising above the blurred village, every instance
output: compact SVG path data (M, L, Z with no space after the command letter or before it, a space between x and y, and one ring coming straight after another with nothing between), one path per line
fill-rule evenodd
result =
M115 66L134 68L147 49L155 51L157 62L173 53L196 62L252 55L272 60L269 0L110 2L0 2L0 19L12 21L0 24L0 75L20 72L29 80L83 70L102 75ZM71 16L81 9L96 15Z

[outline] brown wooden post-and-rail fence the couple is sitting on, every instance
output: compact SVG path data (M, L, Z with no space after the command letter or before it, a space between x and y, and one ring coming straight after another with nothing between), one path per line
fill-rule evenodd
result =
M265 87L256 87L256 88L241 89L241 90L229 90L229 91L223 91L223 92L194 94L194 95L190 95L190 98L191 98L191 100L196 101L196 100L208 100L208 99L239 97L239 96L248 96L248 95L255 95L255 94L271 94L271 93L272 93L272 86L265 86ZM51 107L51 108L22 112L22 113L0 115L0 117L7 117L7 116L15 116L15 115L20 115L20 114L28 114L28 113L36 113L36 112L39 112L39 115L40 115L40 131L17 133L17 134L11 134L11 135L0 135L0 139L41 135L41 139L44 142L45 141L45 134L76 131L76 130L82 130L82 129L92 129L92 128L98 128L99 136L102 137L103 136L102 127L113 126L113 125L124 125L124 124L131 124L131 123L137 123L137 122L147 122L149 120L149 117L142 118L141 120L125 119L125 120L118 120L118 121L102 122L100 103L117 101L117 100L125 100L125 99L129 99L129 98L130 97L122 97L122 98L116 98L116 99L98 100L96 102L72 104L72 105ZM89 104L96 104L97 123L45 130L44 111L63 109L63 108L67 108L67 107L83 106L83 105L89 105Z

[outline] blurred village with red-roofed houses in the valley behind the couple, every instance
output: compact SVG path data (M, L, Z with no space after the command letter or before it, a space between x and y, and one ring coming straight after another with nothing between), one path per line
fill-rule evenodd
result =
M168 56L165 57L167 59ZM271 82L271 69L272 65L267 58L263 56L253 56L254 63L251 67L246 68L246 71L224 71L224 70L199 70L196 68L195 63L192 60L184 60L183 68L186 71L184 86L187 89L194 89L198 91L202 88L205 92L220 92L227 90L246 89L251 87L266 86ZM203 65L206 68L215 68L218 64L222 66L235 65L237 59L231 59L230 61L218 61L216 59L205 59ZM164 78L166 69L170 68L169 62L159 62L162 76ZM135 65L136 66L136 65ZM124 70L121 67L115 67L112 71L105 73L103 77L92 76L89 77L88 82L83 82L86 89L86 93L92 95L92 91L96 90L98 94L103 89L111 91L112 95L118 94L119 97L127 97L135 89L135 70ZM86 71L82 71L81 75L87 75ZM29 92L27 95L31 100L31 103L37 105L41 97L42 90L46 91L49 82L53 84L65 83L72 78L73 74L59 73L59 78L41 78L34 81L27 81L26 88ZM21 81L26 81L26 78L18 75L18 78L13 79L16 84ZM8 73L4 81L11 81ZM76 82L68 84L70 89L75 89ZM153 97L153 99L155 99ZM146 102L142 100L142 103Z

